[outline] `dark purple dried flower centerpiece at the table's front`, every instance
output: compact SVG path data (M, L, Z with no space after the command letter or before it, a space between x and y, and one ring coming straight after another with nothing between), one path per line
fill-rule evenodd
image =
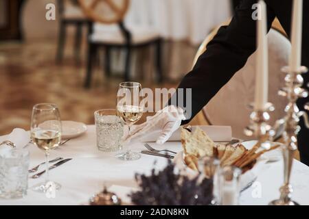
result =
M211 205L213 181L179 174L172 162L151 175L135 175L140 190L130 194L135 205Z

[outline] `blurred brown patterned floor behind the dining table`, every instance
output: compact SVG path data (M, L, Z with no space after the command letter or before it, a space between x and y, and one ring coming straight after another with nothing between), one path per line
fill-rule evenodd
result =
M185 48L190 51L185 53L186 66L181 69L182 74L190 68L196 51L192 47ZM121 77L106 79L98 68L93 87L84 90L84 65L76 66L68 57L65 64L57 66L55 51L56 44L47 41L0 44L0 135L10 133L14 127L29 129L32 106L36 103L56 103L62 120L87 124L93 124L95 110L115 107ZM179 47L175 53L179 53ZM152 80L144 79L142 83L144 87L171 88L179 80L155 85Z

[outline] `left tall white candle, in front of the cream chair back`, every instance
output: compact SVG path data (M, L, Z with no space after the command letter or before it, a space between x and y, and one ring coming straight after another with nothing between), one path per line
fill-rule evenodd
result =
M259 1L258 30L257 30L257 67L255 79L255 110L264 110L268 101L268 42L267 42L267 13L266 3Z

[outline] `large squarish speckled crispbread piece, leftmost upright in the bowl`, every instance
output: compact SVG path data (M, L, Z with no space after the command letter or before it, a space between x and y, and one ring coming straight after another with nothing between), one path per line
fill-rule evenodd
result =
M214 147L216 147L216 144L199 127L196 127L193 133L190 133L190 131L186 129L182 129L181 142L183 144L183 151L185 151L187 155L194 155L196 157L214 155Z

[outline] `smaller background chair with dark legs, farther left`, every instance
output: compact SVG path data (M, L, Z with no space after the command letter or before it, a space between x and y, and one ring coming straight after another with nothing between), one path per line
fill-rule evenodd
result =
M87 26L91 31L92 21L82 12L77 0L57 0L58 14L60 18L60 29L58 36L58 49L56 62L61 63L65 50L65 42L67 38L67 27L75 26L75 44L74 55L76 64L80 64L80 45L82 44L82 27Z

